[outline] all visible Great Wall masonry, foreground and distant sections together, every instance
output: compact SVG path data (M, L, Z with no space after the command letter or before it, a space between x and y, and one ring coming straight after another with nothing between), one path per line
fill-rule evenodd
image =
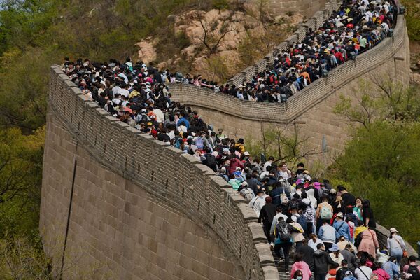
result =
M325 6L301 29L318 27L337 2ZM302 38L301 29L287 43ZM231 83L247 80L271 59L248 67ZM403 15L392 38L337 67L287 105L243 102L188 85L170 87L174 99L227 132L236 127L246 136L260 119L277 125L298 120L315 146L326 135L339 149L346 139L346 125L332 112L339 93L351 92L360 76L379 66L408 82ZM86 100L59 66L51 68L49 96L40 230L55 267L62 260L69 267L63 279L74 279L71 270L94 263L100 264L94 279L279 279L253 210L211 169L109 116ZM230 114L232 106L239 115ZM123 146L116 141L121 138ZM381 244L386 235L379 227ZM80 255L77 263L75 255Z

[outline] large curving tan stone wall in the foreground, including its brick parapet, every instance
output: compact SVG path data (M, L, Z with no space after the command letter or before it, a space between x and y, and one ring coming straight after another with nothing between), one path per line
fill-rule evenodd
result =
M58 270L66 240L64 279L279 279L253 210L208 167L85 100L59 66L48 104L40 230Z

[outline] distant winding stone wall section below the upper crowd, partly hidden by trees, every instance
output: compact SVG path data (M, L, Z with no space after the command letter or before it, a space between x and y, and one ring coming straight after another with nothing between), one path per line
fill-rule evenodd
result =
M327 78L316 80L286 103L249 102L193 85L169 87L174 100L197 109L207 123L222 127L230 137L259 138L262 123L290 132L297 125L314 151L321 152L325 135L332 156L349 139L348 123L334 113L340 95L353 98L360 79L380 75L409 83L409 41L403 15L398 16L392 38L385 38L356 60L339 65Z

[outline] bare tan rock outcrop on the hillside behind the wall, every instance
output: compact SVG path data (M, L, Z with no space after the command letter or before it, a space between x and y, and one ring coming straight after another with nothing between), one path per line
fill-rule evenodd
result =
M287 26L302 22L300 14L282 15L272 18L272 15L261 10L261 7L246 1L244 10L191 10L181 15L171 15L169 22L174 27L175 34L183 34L190 45L174 54L169 59L158 64L160 69L178 69L180 63L188 62L190 73L201 74L207 80L221 81L228 76L234 76L241 67L241 57L238 47L244 39L261 38L272 31L272 26L280 22ZM139 59L148 63L159 57L155 46L157 39L147 38L137 43ZM185 63L183 63L185 65Z

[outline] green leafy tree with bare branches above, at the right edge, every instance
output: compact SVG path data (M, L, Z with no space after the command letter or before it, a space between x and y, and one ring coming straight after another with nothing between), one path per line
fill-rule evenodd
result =
M414 244L420 239L419 89L372 78L353 98L341 98L335 112L360 125L329 176L369 199L377 221Z

